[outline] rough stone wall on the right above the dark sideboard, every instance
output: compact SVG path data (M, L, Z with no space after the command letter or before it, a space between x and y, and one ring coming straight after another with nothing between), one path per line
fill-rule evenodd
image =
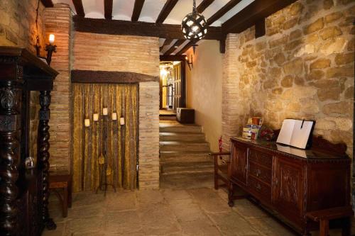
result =
M316 120L315 134L353 147L354 1L299 0L226 40L224 148L247 116L280 128L285 118Z

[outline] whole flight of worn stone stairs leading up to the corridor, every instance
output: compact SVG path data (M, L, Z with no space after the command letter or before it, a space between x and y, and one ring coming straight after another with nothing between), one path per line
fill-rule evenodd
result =
M160 120L160 187L191 189L213 185L209 143L199 125Z

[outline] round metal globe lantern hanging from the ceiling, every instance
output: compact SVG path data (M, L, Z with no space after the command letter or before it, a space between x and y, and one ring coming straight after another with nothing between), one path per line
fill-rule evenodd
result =
M196 9L196 0L194 0L194 6L192 13L187 14L181 23L181 30L184 37L190 40L194 48L194 54L196 49L196 43L198 40L202 40L207 33L207 21Z

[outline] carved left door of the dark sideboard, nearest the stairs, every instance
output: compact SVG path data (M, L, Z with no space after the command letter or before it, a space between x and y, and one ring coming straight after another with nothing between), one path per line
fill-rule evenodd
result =
M246 186L246 173L248 169L247 148L234 143L231 147L231 178L239 184Z

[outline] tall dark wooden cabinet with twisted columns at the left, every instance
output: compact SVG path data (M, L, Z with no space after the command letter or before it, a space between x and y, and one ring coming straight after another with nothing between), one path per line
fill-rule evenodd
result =
M40 235L48 214L50 90L58 72L23 48L0 47L0 235ZM30 96L38 101L37 168L26 170Z

